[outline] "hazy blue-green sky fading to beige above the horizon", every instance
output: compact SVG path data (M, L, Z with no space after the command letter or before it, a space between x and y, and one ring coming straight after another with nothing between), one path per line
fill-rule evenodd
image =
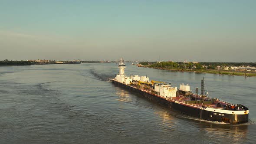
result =
M256 62L256 0L0 0L0 60Z

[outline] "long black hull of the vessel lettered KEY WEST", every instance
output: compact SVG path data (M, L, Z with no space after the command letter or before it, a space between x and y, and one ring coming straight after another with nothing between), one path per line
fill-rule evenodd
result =
M197 107L191 107L187 105L183 105L181 103L176 103L175 101L168 101L164 98L158 97L154 94L143 92L137 88L130 87L128 85L122 84L120 82L116 82L112 80L112 83L117 85L118 87L125 88L126 90L135 92L141 96L144 96L146 98L149 98L153 101L157 101L158 103L174 109L176 111L179 111L183 114L190 115L195 118L201 118L207 121L218 121L218 122L226 122L230 124L239 124L239 123L245 123L248 122L249 114L246 115L232 115L232 114L223 114L213 111L206 111L204 109L200 109Z

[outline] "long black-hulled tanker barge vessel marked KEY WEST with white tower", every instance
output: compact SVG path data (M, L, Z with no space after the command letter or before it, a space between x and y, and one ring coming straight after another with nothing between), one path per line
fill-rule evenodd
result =
M121 59L119 72L112 83L118 87L138 93L168 108L186 115L207 121L218 121L229 124L246 123L249 120L249 109L241 104L234 105L217 98L204 95L204 80L201 81L201 94L193 94L189 85L181 84L180 88L171 87L165 82L149 81L147 76L125 75L125 63ZM198 93L198 88L196 89Z

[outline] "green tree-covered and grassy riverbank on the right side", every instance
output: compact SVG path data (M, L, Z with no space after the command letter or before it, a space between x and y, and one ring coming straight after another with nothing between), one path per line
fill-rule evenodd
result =
M205 66L202 64L208 65ZM140 62L138 64L139 67L144 68L153 68L153 69L163 69L163 70L170 70L176 72L197 72L197 73L211 73L217 75L237 75L237 76L244 76L244 77L256 77L256 72L247 72L247 71L235 71L235 70L223 70L223 69L216 69L217 66L228 66L228 65L250 65L255 66L256 63L239 63L239 62L231 62L231 63L224 63L224 62L198 62L198 63L183 63L183 62ZM210 67L211 69L207 69L206 67ZM190 69L188 69L190 68Z

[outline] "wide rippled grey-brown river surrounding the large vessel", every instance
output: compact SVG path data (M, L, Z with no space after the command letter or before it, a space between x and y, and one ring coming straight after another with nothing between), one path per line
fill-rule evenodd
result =
M253 144L256 140L256 78L141 68L172 86L201 85L211 97L249 108L250 121L230 125L182 115L112 85L116 63L0 67L0 143ZM200 90L199 90L200 92Z

